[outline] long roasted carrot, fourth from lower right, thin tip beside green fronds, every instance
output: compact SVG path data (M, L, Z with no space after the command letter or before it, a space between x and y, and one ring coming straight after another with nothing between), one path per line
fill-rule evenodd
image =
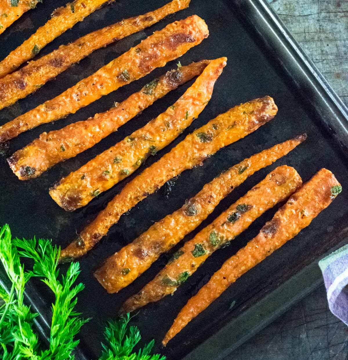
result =
M61 251L61 260L67 261L86 254L106 235L120 216L139 201L154 193L166 181L182 171L197 166L217 150L255 131L270 121L277 111L273 99L265 96L235 106L186 136L159 161L129 181L96 219L84 228L77 239ZM68 200L68 209L73 209L78 204L78 199L72 197Z

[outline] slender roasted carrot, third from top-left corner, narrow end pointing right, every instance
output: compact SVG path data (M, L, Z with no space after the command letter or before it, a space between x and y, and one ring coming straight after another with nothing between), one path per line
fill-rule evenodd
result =
M173 0L144 15L122 20L93 31L68 45L61 45L38 60L0 79L0 109L25 98L69 66L90 55L94 50L123 39L160 21L166 15L188 6L190 0ZM1 5L0 5L1 7ZM1 12L0 12L1 21Z

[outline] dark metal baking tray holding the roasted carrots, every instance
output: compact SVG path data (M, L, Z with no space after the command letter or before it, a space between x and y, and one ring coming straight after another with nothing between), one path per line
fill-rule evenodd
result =
M85 33L122 18L155 9L166 2L168 1L115 1L87 17L72 30L65 32L46 46L42 53L48 53L60 44L77 39ZM66 0L45 0L43 5L24 14L1 35L0 58L4 58L10 50L21 44L36 28L46 22L49 14L57 6L64 3ZM222 149L215 156L207 159L203 166L185 171L171 186L170 192L169 187L164 186L157 193L139 203L121 217L99 246L86 257L81 258L82 273L79 280L86 284L86 288L79 295L78 310L85 316L93 318L84 326L80 335L80 349L83 349L84 353L84 355L82 352L79 353L78 357L81 358L86 356L86 359L95 359L99 355L105 320L114 317L122 302L155 276L164 266L169 255L162 256L145 274L116 295L107 294L100 287L92 276L93 270L106 256L132 241L154 221L179 208L185 199L196 194L205 183L222 170L253 153L303 132L308 134L307 141L288 156L257 172L235 189L217 206L214 213L184 240L192 238L221 211L279 165L294 166L304 181L321 167L326 167L334 172L342 183L344 191L308 228L260 265L243 275L206 311L188 324L167 348L161 348L161 339L189 297L197 292L226 258L233 255L258 233L265 221L272 217L276 208L265 213L235 239L231 246L214 253L174 296L166 297L140 310L132 322L139 326L143 335L142 341L155 338L155 350L167 355L170 360L222 359L319 284L320 272L317 269L317 260L324 253L345 242L347 237L347 108L289 34L266 0L192 0L188 9L169 16L145 31L129 36L105 49L95 51L88 58L59 75L55 81L47 83L35 94L20 100L10 108L3 109L0 112L0 123L12 120L15 116L60 94L153 31L191 14L200 15L205 19L210 36L201 45L188 51L180 58L180 62L188 64L193 60L220 56L227 56L228 62L223 74L217 80L212 99L206 109L177 140L162 150L157 157L168 152L193 129L235 104L270 95L275 99L279 112L273 121L237 143ZM10 152L23 147L42 131L59 129L69 123L84 120L96 112L105 111L115 101L126 98L150 79L175 67L175 63L171 62L165 68L156 69L145 78L104 96L64 120L40 126L18 136L17 139L11 141ZM141 116L124 125L117 133L111 134L95 147L55 166L35 180L19 181L10 171L5 159L1 159L0 224L8 223L13 234L18 237L30 238L36 235L52 238L55 243L62 246L67 245L75 232L80 231L88 221L93 219L96 213L104 208L129 180L122 181L88 206L74 213L64 212L51 200L47 192L49 186L164 111L191 83L157 101ZM156 161L157 157L149 159L145 166ZM130 179L141 170L139 169ZM3 273L1 273L1 278L5 279ZM42 315L38 320L42 334L47 334L51 295L40 282L32 283L27 289L27 295L28 301ZM230 309L233 301L235 305Z

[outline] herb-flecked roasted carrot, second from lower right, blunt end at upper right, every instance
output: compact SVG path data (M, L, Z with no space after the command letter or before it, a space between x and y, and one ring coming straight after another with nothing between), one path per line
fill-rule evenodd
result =
M130 312L158 301L174 291L215 250L225 247L249 225L278 202L287 199L302 185L301 177L293 167L279 166L255 185L237 202L201 230L178 250L156 277L130 297L121 312Z

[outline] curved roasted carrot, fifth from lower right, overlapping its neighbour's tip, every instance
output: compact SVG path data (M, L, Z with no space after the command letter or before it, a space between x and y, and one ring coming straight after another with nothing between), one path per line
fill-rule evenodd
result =
M71 210L71 198L78 199L75 208L82 207L132 174L148 156L170 144L209 102L226 60L212 60L194 84L165 112L61 179L50 190L52 199L65 210Z

